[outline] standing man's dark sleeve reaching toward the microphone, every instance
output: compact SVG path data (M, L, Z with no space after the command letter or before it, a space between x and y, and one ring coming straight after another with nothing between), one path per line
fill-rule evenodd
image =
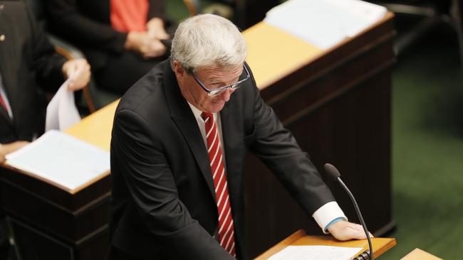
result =
M308 215L334 197L321 179L308 154L298 146L288 129L274 114L273 109L261 99L255 87L254 133L246 136L252 139L250 151L276 175L288 193L303 207Z

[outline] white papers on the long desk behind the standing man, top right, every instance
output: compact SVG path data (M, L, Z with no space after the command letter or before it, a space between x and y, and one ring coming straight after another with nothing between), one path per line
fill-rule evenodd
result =
M385 7L360 0L288 0L267 12L264 21L327 49L360 33L386 13Z

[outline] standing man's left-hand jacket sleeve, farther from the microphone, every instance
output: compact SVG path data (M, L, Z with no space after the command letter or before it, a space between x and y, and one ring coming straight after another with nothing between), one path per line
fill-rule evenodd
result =
M180 201L161 142L144 119L123 109L115 116L111 153L137 212L150 232L184 259L234 259Z

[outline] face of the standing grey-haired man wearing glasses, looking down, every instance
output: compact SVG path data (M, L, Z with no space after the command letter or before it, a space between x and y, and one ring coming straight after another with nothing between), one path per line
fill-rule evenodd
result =
M238 81L243 70L243 65L231 67L230 69L201 68L194 72L197 79L209 90L217 87L231 85ZM187 73L177 60L174 61L174 71L180 91L187 101L202 112L217 113L224 108L234 90L227 89L222 94L210 97L206 91L194 80L193 75Z

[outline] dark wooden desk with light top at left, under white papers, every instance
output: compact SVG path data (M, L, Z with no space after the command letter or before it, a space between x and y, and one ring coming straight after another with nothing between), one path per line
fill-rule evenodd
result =
M109 151L116 105L114 102L95 112L66 132ZM4 166L0 167L0 193L0 205L6 212L21 259L106 258L109 173L66 190Z

